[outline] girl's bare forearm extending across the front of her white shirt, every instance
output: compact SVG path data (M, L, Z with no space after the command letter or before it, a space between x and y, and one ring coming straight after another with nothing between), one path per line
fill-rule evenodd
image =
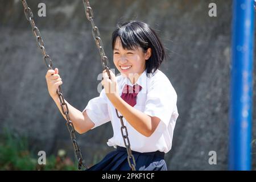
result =
M119 96L109 96L109 99L119 113L125 117L126 121L129 122L135 130L146 137L150 137L155 127L149 115L130 106Z

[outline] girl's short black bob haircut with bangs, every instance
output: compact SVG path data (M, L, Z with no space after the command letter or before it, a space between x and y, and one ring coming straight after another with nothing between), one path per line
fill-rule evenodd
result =
M131 20L125 23L118 23L112 34L112 49L115 40L120 38L123 49L134 49L141 47L144 52L151 48L150 59L146 61L147 73L154 73L166 58L166 53L155 31L143 22Z

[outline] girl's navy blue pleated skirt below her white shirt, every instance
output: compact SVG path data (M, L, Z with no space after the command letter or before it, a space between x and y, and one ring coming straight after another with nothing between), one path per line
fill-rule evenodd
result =
M164 161L164 152L135 152L134 155L137 171L167 171ZM124 147L117 146L117 150L110 152L101 162L86 171L130 171L127 161L127 151Z

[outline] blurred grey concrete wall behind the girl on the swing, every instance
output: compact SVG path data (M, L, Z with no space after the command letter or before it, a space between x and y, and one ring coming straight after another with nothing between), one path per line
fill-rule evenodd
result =
M49 97L46 65L22 3L0 2L0 127L28 135L30 146L47 154L64 148L73 156L65 120ZM45 18L37 15L39 2L46 3ZM208 16L210 2L217 4L217 17ZM97 76L102 71L82 1L27 3L53 66L59 68L63 78L65 99L83 110L91 98L98 96ZM138 19L159 30L168 54L160 69L176 89L180 114L172 150L166 157L168 169L227 169L232 1L106 0L90 5L112 68L110 38L117 22ZM254 86L254 94L255 90ZM256 138L255 113L253 122ZM113 150L106 145L112 134L108 123L78 136L87 164L96 163ZM217 152L217 165L208 163L212 150ZM255 161L253 154L254 169Z

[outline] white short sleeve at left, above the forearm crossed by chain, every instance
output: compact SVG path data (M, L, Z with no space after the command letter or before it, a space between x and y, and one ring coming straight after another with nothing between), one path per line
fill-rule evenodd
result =
M99 97L90 100L82 112L85 110L90 120L95 124L93 129L110 121L108 98L106 98L105 89L101 91Z

